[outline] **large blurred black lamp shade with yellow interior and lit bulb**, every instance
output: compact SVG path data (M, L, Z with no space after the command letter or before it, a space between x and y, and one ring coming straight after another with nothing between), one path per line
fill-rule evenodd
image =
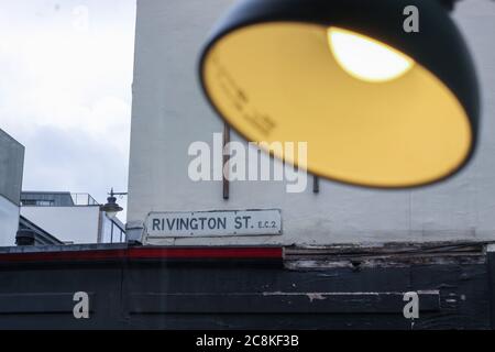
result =
M409 6L419 32L404 30ZM306 142L306 160L265 148L346 184L431 184L476 144L476 75L440 1L241 1L207 42L200 80L246 140Z

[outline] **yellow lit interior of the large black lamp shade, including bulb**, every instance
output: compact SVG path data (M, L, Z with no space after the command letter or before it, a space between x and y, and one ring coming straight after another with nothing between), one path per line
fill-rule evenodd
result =
M218 41L204 65L207 94L237 131L250 141L307 142L306 163L270 152L327 178L427 184L457 169L471 148L455 96L408 56L358 33L251 25Z

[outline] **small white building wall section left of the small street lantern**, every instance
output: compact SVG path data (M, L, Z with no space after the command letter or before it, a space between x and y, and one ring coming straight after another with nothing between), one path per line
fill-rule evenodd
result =
M21 215L63 242L98 242L99 206L22 207Z

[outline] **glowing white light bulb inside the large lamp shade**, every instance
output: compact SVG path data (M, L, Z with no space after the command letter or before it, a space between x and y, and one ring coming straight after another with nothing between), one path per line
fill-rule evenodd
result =
M328 41L339 65L362 80L392 80L406 74L415 64L393 47L348 30L330 28Z

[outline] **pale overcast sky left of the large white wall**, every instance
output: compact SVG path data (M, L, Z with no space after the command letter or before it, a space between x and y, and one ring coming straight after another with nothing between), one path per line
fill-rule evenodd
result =
M25 146L24 190L127 191L134 25L135 0L0 0L0 128Z

